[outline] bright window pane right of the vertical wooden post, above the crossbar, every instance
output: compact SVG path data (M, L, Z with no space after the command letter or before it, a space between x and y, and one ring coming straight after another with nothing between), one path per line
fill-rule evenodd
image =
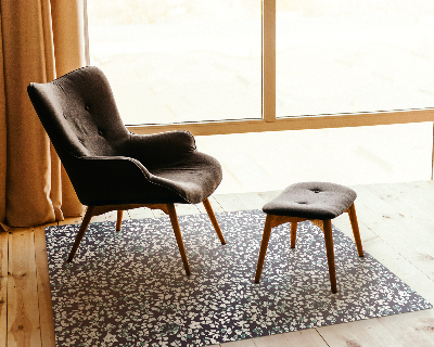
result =
M277 0L278 117L434 106L434 1Z

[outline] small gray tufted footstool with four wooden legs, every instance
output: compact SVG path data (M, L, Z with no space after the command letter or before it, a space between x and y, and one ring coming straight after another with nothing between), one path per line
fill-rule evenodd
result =
M271 229L282 223L291 222L291 247L294 248L297 222L311 220L324 233L330 283L332 293L337 293L331 220L343 213L348 213L357 252L362 257L363 249L361 247L356 208L354 207L356 197L357 194L354 190L341 184L302 182L288 187L279 196L265 204L263 210L267 214L267 218L260 244L255 283L259 283Z

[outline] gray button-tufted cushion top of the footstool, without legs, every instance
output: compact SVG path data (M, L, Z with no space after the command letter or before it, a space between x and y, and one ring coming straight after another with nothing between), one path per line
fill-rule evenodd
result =
M276 216L333 219L346 211L356 197L354 190L341 184L302 182L288 187L263 210Z

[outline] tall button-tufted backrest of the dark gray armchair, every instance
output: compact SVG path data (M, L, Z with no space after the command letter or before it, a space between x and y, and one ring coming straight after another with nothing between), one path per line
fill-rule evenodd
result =
M115 155L129 132L103 73L88 66L48 83L27 88L34 107L59 156Z

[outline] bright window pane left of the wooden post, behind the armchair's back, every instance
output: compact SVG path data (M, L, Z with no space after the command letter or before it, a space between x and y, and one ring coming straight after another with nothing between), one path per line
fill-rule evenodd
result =
M127 125L261 117L260 0L88 0Z

